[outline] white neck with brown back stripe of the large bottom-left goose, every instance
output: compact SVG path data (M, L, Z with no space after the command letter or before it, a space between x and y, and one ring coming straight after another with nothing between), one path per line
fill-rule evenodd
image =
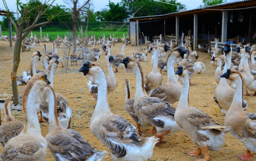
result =
M34 136L41 135L41 128L35 110L36 107L40 108L39 106L41 103L38 95L40 88L37 86L37 84L32 84L30 89L29 86L27 86L22 99L22 108L25 114L25 126L21 133L30 133Z

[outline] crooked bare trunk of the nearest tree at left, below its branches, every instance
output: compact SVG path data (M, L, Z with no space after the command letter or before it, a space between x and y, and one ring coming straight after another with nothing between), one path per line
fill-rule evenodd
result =
M18 29L16 27L16 41L14 45L14 50L13 50L13 68L12 68L12 73L11 73L11 80L12 80L12 93L13 93L13 98L15 106L19 104L18 101L18 86L17 86L17 70L18 66L20 63L20 49L21 49L21 42L22 42L22 28Z

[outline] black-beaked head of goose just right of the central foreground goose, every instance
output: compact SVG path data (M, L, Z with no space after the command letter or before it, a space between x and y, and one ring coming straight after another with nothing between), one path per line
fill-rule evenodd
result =
M130 56L123 58L123 61L121 63L125 65L127 73L136 74L137 67L141 68L140 62L137 59Z

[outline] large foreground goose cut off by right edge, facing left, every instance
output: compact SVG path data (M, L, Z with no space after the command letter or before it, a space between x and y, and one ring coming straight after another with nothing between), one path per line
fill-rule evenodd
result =
M224 124L230 129L234 138L240 140L247 148L246 155L237 155L240 160L253 160L251 151L256 152L255 118L256 115L243 109L243 79L240 72L227 69L221 78L234 89L234 98L227 111Z

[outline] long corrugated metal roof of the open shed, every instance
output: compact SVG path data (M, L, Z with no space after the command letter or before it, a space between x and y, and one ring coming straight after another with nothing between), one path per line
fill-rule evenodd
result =
M228 2L224 2L224 3L220 3L220 4L217 4L217 5L212 5L212 6L207 6L207 7L202 7L202 8L196 8L196 9L191 9L191 10L186 10L186 11L181 11L181 12L174 12L174 13L168 13L168 14L163 14L163 15L153 15L153 16L141 16L141 17L133 17L133 18L130 18L131 19L140 19L140 18L151 18L151 17L164 17L164 16L168 16L168 15L177 15L177 14L186 14L186 13L191 13L191 12L196 12L196 11L210 11L211 9L215 9L217 8L218 9L222 9L224 10L221 6L230 6L230 4L238 4L238 3L241 3L241 2L256 2L256 0L231 0L231 1L228 1ZM247 7L251 7L251 6L247 6ZM235 9L235 8L233 8Z

